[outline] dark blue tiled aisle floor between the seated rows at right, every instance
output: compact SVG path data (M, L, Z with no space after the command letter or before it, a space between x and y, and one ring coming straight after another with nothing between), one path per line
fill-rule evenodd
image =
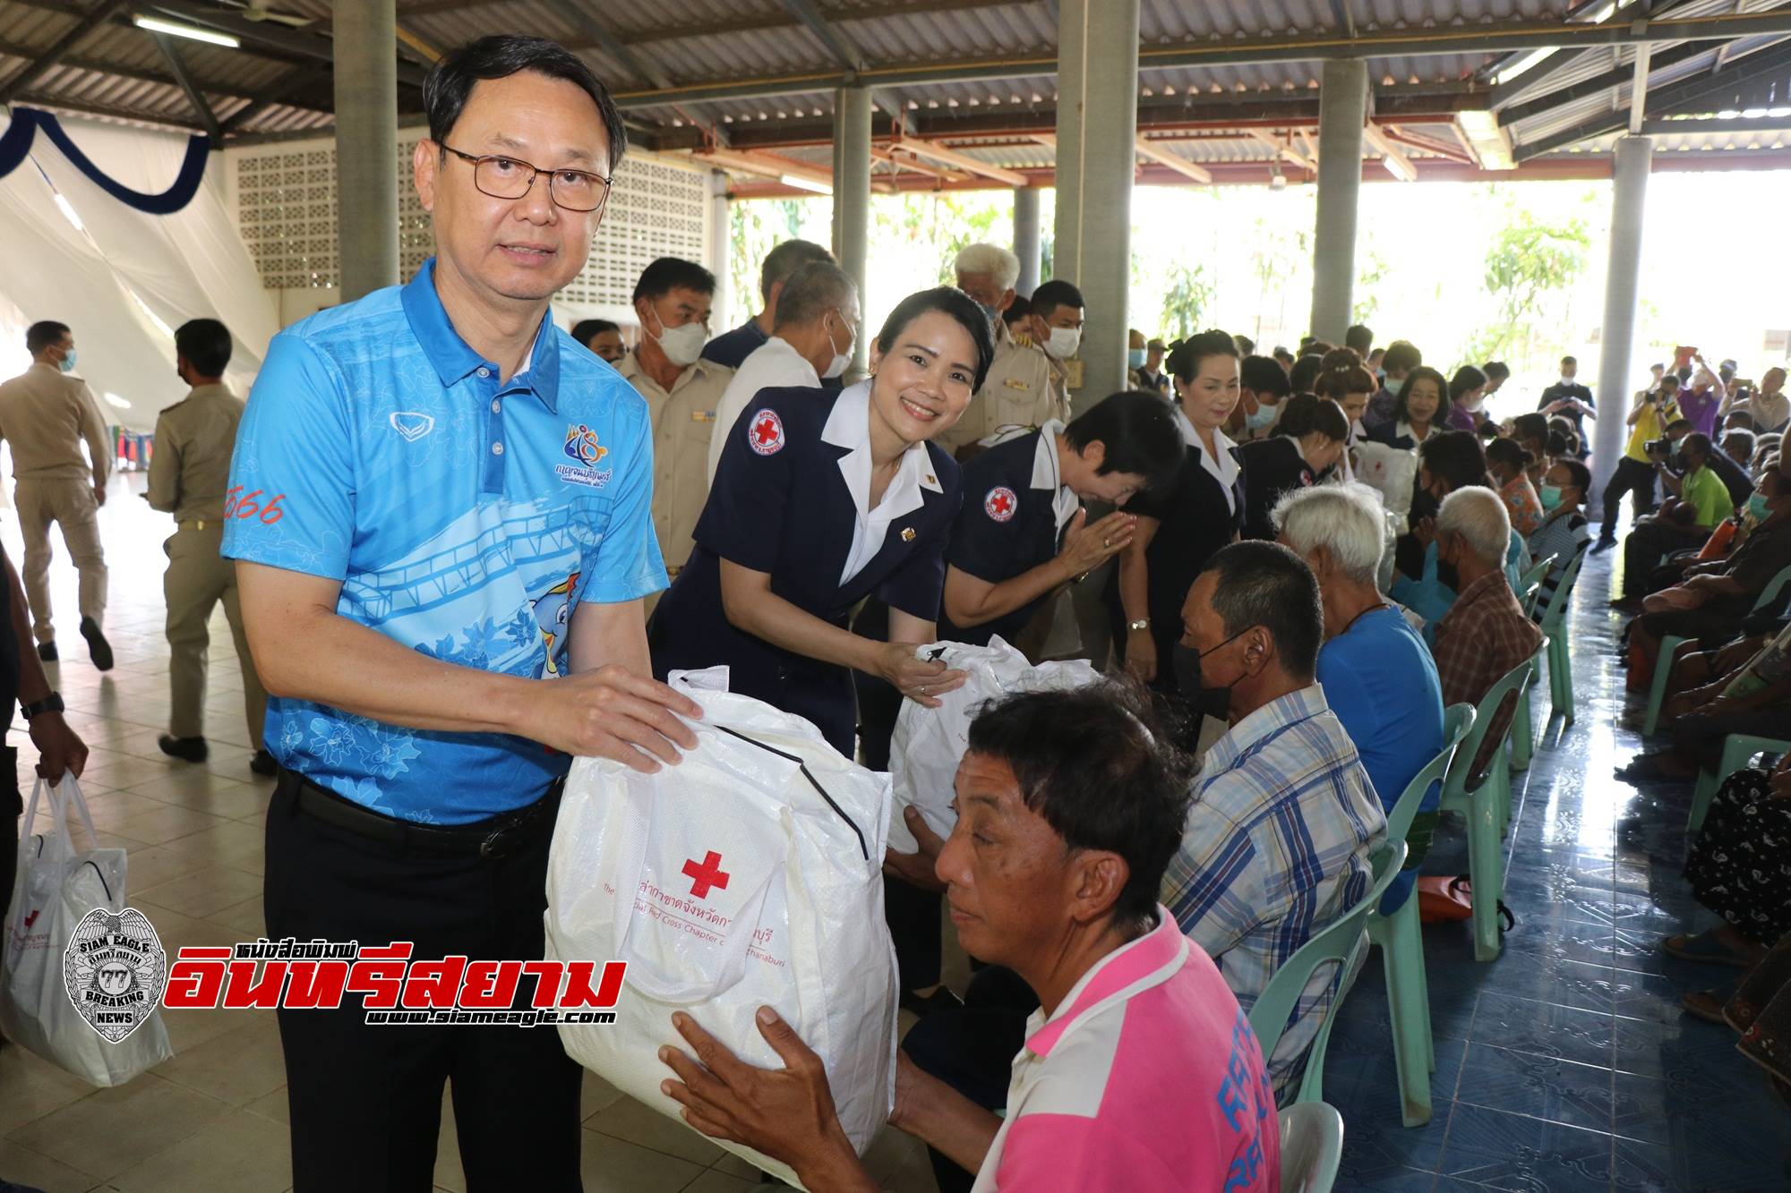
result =
M1689 792L1641 794L1612 777L1637 734L1614 654L1612 559L1574 593L1578 718L1549 725L1513 786L1504 955L1474 962L1467 926L1424 928L1436 1032L1435 1118L1399 1121L1379 960L1343 1005L1325 1100L1345 1120L1340 1189L1791 1188L1791 1111L1734 1050L1735 1034L1685 1016L1684 991L1739 971L1660 953L1660 937L1714 917L1680 876ZM1547 682L1531 691L1537 725ZM1424 865L1467 871L1460 824Z

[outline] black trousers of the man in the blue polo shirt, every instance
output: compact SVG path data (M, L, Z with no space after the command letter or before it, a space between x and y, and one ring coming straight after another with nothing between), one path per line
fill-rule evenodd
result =
M412 958L537 960L543 829L500 858L414 853L326 824L281 783L267 813L267 935L410 940ZM525 978L516 1007L534 998ZM296 1193L428 1193L442 1084L451 1084L467 1189L580 1189L582 1073L553 1026L369 1026L340 1010L281 1010Z

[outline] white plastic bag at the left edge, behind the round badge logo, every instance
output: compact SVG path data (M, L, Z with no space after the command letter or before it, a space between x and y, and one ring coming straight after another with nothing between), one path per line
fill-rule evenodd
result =
M34 831L39 828L39 799L50 824ZM88 840L93 840L93 819L73 776L64 776L56 786L38 779L25 808L18 878L5 919L5 953L0 955L0 1030L82 1080L122 1086L170 1059L174 1048L159 1010L122 1041L111 1043L81 1017L68 994L63 964L81 919L93 908L125 910L124 849L75 849L68 837L70 806L81 813ZM149 931L154 937L154 928ZM159 951L159 940L154 948ZM163 982L167 971L163 957Z

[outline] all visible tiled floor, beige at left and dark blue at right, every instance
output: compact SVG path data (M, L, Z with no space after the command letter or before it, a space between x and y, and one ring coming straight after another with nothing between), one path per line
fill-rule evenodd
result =
M109 631L118 666L100 677L73 625L73 573L54 571L63 611L57 682L93 747L84 790L100 838L129 849L129 899L167 946L261 931L261 817L269 785L249 768L236 659L213 631L211 761L156 749L167 718L159 552L167 523L113 485L102 511L111 561ZM0 539L16 561L11 511ZM1635 747L1614 729L1623 675L1617 622L1603 607L1610 555L1585 568L1574 613L1580 718L1547 731L1513 795L1504 957L1476 964L1465 928L1426 928L1436 1028L1435 1120L1399 1123L1379 962L1343 1007L1327 1100L1347 1121L1340 1189L1728 1189L1791 1188L1791 1112L1732 1048L1687 1019L1678 992L1709 973L1662 958L1658 939L1701 926L1678 876L1685 806L1610 779ZM1546 686L1535 691L1538 720ZM18 729L13 743L29 738ZM1465 871L1458 829L1431 872ZM91 1091L20 1048L0 1048L0 1177L61 1189L285 1189L285 1071L270 1014L165 1012L176 1059L124 1089ZM752 1170L670 1120L586 1082L584 1179L593 1193L727 1193ZM462 1189L444 1105L437 1184ZM913 1141L872 1150L883 1188L931 1193Z

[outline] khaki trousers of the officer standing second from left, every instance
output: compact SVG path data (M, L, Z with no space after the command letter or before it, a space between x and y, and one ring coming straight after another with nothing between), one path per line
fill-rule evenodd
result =
M236 639L236 661L242 665L242 704L249 718L249 742L261 749L261 727L267 724L267 690L254 674L249 656L249 636L242 629L242 607L236 604L236 566L219 554L224 545L224 523L183 523L161 545L168 554L168 573L161 591L168 602L168 682L174 690L174 711L168 733L177 738L202 738L206 733L206 648L211 645L211 609L224 602L224 618Z

